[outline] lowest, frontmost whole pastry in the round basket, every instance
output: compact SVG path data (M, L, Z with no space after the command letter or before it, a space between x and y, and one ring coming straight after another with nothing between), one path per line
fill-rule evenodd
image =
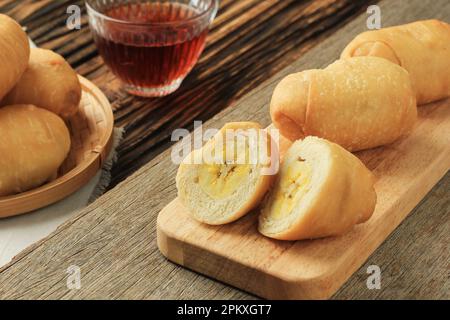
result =
M69 131L57 115L32 105L0 108L0 196L48 181L69 150Z

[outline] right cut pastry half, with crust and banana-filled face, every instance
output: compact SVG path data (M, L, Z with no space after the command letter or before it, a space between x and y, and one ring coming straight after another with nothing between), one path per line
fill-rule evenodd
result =
M374 176L353 154L317 137L287 151L259 217L259 231L280 240L340 235L375 208Z

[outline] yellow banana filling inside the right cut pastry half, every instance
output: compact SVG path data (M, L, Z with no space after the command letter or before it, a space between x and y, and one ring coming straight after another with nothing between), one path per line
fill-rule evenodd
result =
M276 220L291 214L296 204L308 193L311 184L311 166L302 158L289 163L280 172L280 183L274 190L270 217Z

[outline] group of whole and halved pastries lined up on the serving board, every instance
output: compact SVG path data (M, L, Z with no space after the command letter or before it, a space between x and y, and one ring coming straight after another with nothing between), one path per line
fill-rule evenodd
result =
M276 86L270 115L281 139L292 142L287 152L274 157L282 143L267 147L275 137L256 123L227 124L180 165L179 199L193 218L211 225L258 208L258 229L271 238L341 235L367 221L377 200L374 175L351 152L407 135L417 104L450 96L449 70L450 25L444 22L365 32L340 60L288 75ZM230 128L240 129L234 138L225 134ZM261 149L266 157L250 161ZM276 174L264 172L278 160Z

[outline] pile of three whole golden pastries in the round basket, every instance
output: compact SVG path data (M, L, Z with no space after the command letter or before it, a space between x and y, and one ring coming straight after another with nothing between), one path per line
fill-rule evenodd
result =
M71 144L63 119L80 99L78 76L64 58L30 49L21 26L0 14L0 197L56 177Z

